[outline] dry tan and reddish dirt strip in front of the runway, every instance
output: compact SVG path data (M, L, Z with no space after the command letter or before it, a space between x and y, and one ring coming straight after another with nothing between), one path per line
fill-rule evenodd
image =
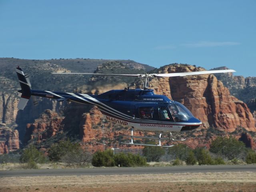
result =
M4 177L0 192L256 192L256 172Z

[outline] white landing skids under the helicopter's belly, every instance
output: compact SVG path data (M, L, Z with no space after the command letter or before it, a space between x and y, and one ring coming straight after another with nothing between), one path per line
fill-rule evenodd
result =
M130 138L131 138L131 142L130 142L130 143L121 142L122 144L126 144L126 145L141 145L141 146L173 147L173 146L175 146L175 145L162 145L162 144L161 144L161 140L171 140L171 141L185 141L185 140L186 140L186 139L182 139L182 140L174 139L174 138L172 137L172 133L171 133L171 132L170 132L170 137L169 137L169 138L161 137L161 136L162 136L162 133L159 134L159 137L134 136L134 135L133 135L133 130L134 130L134 128L132 128L132 130L131 130L131 135L124 135L124 137L130 137ZM134 143L134 142L133 142L133 139L134 139L134 138L140 138L140 139L155 139L155 140L158 140L158 144L157 144L157 145L153 145L153 144Z

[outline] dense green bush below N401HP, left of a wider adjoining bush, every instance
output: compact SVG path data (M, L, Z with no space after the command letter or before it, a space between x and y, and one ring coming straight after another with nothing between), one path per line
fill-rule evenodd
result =
M93 154L92 165L95 167L112 167L115 165L113 150L97 151Z

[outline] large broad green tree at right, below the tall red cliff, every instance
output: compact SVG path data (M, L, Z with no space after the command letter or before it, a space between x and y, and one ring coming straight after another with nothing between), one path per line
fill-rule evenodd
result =
M222 155L228 158L228 160L238 158L238 156L243 155L245 151L245 144L232 136L229 138L219 136L213 140L210 145L210 152L218 154L219 156Z

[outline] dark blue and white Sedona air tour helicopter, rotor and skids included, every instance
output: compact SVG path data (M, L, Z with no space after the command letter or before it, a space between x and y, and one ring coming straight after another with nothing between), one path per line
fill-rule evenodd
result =
M143 78L143 89L124 88L123 90L109 90L98 95L56 92L45 90L32 90L28 75L24 74L18 66L16 73L20 82L21 98L18 102L18 109L23 110L31 96L55 99L58 102L70 101L82 104L97 106L106 120L131 128L131 138L128 145L140 146L162 146L172 147L174 145L162 145L161 140L176 140L172 137L172 132L183 132L194 130L202 125L202 122L195 118L193 114L183 104L169 99L164 95L154 94L154 90L149 89L149 79L154 77L174 77L201 74L214 74L236 72L235 70L209 70L167 74L94 74L94 73L55 73L51 74L86 74L86 75L112 75L112 76L134 76ZM134 136L134 130L159 132L158 137ZM162 137L163 132L170 133L169 137ZM158 140L158 144L135 143L134 138L149 138Z

